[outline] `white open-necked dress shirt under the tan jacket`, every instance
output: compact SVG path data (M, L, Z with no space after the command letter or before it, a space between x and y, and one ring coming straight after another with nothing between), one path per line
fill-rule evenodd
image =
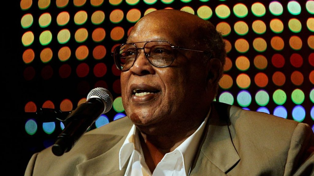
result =
M119 167L120 170L127 164L125 176L187 176L189 175L194 155L198 148L198 143L201 140L202 133L205 128L210 110L198 127L198 129L182 142L175 150L166 153L164 158L157 164L153 173L150 172L145 163L141 143L139 140L139 130L133 125L130 132L124 141L119 152Z

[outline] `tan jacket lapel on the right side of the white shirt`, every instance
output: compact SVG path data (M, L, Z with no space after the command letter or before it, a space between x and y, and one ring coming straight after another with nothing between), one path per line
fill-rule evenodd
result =
M191 175L226 175L240 160L229 132L229 106L215 102Z

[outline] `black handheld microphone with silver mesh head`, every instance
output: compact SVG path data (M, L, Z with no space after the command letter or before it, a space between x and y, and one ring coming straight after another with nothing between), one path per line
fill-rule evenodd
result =
M112 95L107 89L98 87L91 90L87 101L80 104L66 118L67 125L52 146L52 153L61 156L70 151L98 117L111 109L112 101Z

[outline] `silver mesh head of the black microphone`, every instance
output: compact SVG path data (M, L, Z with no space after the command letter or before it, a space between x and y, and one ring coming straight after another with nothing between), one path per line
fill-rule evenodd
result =
M113 98L112 98L111 93L107 89L103 87L97 87L91 90L87 95L87 100L92 96L93 97L97 96L104 101L106 107L103 114L108 112L111 109Z

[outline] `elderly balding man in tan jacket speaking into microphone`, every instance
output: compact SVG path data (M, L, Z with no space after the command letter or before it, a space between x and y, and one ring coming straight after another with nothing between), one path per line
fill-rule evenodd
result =
M25 175L311 175L304 123L215 102L225 44L196 15L157 10L113 52L127 117L62 156L35 153Z

